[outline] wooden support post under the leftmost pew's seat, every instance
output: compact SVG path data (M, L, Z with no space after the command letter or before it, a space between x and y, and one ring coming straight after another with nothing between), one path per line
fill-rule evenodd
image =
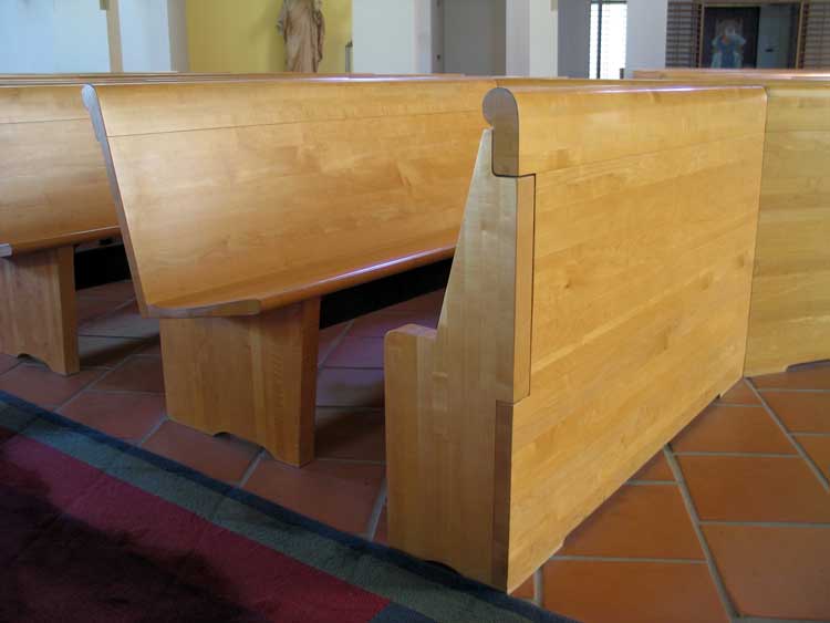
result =
M71 246L0 258L0 352L81 370Z

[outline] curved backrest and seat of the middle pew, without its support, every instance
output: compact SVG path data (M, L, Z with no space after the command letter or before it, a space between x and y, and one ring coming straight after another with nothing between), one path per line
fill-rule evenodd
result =
M84 87L151 315L251 315L452 256L473 79Z

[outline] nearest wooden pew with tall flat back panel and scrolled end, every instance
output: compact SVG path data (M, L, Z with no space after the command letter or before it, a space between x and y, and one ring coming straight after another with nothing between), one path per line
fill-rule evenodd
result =
M393 547L511 591L740 378L765 100L487 96L438 329L386 335Z

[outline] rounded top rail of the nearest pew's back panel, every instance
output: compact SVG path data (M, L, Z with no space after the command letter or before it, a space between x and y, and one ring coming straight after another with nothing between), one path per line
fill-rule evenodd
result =
M614 93L625 93L626 97L622 101L609 97ZM728 96L724 96L725 93ZM578 86L538 83L500 86L488 93L484 102L485 117L492 126L494 172L505 176L532 175L540 170L573 166L583 159L613 158L631 152L679 146L687 141L687 133L664 133L673 124L671 112L674 100L681 100L684 104L697 103L697 113L688 114L687 123L694 123L694 131L717 141L718 136L729 133L730 127L724 122L708 118L712 111L726 108L741 100L760 100L766 104L766 94L755 85L651 83L641 86L625 82ZM635 114L624 106L652 111L654 120L646 127L629 126L613 136L596 134L592 132L593 126L589 126L589 134L585 134L584 127L577 128L575 124L570 124L589 114L599 116L613 112L620 117ZM766 105L748 110L753 116L741 125L755 127L759 118L765 117ZM568 145L569 149L566 150L562 144Z

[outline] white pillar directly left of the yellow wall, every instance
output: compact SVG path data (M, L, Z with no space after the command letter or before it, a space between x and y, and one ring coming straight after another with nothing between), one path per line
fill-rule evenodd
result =
M187 70L184 0L117 0L125 72Z

